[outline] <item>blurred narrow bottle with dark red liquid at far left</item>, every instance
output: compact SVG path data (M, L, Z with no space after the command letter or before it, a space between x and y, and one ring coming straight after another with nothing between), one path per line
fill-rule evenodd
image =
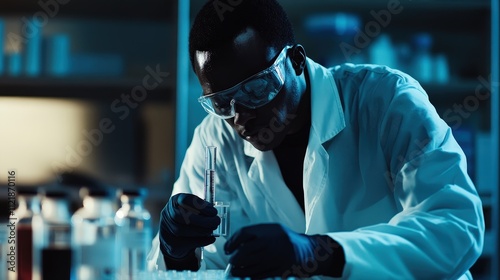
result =
M17 279L32 280L33 277L33 217L40 215L40 198L35 187L17 188L19 207L16 216L17 231Z

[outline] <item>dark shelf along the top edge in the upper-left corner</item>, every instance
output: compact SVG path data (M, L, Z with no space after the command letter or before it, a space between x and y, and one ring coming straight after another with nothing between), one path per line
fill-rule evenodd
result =
M57 3L57 7L53 3ZM65 4L59 4L65 3ZM43 7L39 3L51 3ZM35 15L54 17L123 18L127 20L171 20L176 17L176 1L171 0L2 0L0 16Z

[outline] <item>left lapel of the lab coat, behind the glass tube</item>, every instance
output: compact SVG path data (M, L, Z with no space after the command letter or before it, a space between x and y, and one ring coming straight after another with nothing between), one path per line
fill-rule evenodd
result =
M304 212L286 186L274 153L261 152L245 142L245 154L254 157L243 189L253 208L255 222L279 222L294 231L305 232ZM253 221L252 221L253 222Z

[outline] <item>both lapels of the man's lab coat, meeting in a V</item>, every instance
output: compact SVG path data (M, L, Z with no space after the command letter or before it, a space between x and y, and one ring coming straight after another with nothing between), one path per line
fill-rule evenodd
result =
M330 71L308 59L311 80L311 130L304 159L304 213L286 186L272 152L261 152L244 141L244 153L253 158L243 191L251 205L252 223L280 222L297 232L318 232L324 208L319 205L328 184L329 153L324 144L345 127L338 90ZM336 187L336 186L332 186Z

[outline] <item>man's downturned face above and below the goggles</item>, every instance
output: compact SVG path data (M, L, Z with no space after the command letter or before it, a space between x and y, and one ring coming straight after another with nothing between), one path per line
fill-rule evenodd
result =
M217 53L197 51L195 72L208 95L231 88L270 67L281 49L269 47L251 28ZM226 121L238 135L261 151L272 150L293 128L301 93L289 56L284 59L284 84L277 95L262 107L250 109L235 98L235 116Z

